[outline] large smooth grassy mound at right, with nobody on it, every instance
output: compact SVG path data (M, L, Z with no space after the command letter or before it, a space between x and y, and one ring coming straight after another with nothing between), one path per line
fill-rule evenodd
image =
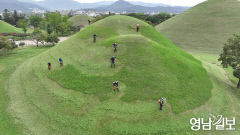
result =
M240 34L240 2L208 0L156 28L187 51L219 53L233 34Z

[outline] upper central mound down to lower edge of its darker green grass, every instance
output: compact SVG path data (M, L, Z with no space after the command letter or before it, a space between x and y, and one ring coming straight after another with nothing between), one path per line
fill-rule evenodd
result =
M139 33L137 23L141 24ZM96 44L92 43L94 33ZM117 53L113 53L114 42L119 44ZM115 69L110 68L113 55ZM100 101L116 98L112 94L115 80L124 91L120 100L156 102L167 97L174 113L200 106L211 96L212 84L201 62L132 17L111 16L96 22L42 57L54 61L53 65L58 65L58 57L64 59L65 67L54 66L47 74L50 79Z

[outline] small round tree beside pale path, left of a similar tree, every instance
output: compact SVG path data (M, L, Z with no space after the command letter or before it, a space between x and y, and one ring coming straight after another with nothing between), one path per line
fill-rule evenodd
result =
M40 29L34 29L33 33L31 34L31 39L37 44L38 47L40 42L44 44L46 36Z

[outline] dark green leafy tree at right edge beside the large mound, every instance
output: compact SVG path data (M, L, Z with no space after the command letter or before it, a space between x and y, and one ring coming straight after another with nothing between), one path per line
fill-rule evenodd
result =
M227 40L218 60L224 68L233 68L233 75L239 79L237 88L240 88L240 35L233 35Z

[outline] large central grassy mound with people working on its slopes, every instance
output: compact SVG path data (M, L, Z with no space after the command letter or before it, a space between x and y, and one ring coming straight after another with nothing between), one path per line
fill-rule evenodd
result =
M92 43L94 33L96 44ZM114 42L119 44L117 53ZM110 68L113 55L117 58L114 69ZM64 67L59 66L59 57ZM120 81L119 93L112 90L115 80ZM157 133L168 114L204 104L212 88L201 62L152 26L126 16L87 26L23 63L9 82L16 84L8 86L10 110L29 132L38 134ZM160 114L157 99L161 97L168 104ZM152 125L144 126L145 122ZM139 126L130 128L132 124Z

